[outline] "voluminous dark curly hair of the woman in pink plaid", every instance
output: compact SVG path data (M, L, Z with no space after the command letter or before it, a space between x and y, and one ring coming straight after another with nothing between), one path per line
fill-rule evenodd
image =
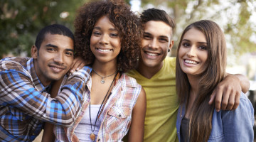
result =
M102 16L107 16L119 33L121 51L117 56L117 70L127 72L134 69L138 64L142 28L138 16L122 0L90 1L78 9L74 24L76 56L94 62L90 38L95 23Z

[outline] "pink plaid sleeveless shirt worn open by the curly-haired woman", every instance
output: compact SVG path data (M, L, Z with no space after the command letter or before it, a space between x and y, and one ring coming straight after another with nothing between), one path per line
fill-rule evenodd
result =
M75 136L75 128L78 126L85 114L85 109L90 102L90 88L92 78L90 77L85 92L85 103L83 103L80 115L71 127L55 126L55 141L79 141ZM132 109L137 102L142 87L137 84L136 80L125 74L117 80L112 89L110 99L107 100L106 106L102 111L104 120L97 133L96 141L122 141L127 134L132 121Z

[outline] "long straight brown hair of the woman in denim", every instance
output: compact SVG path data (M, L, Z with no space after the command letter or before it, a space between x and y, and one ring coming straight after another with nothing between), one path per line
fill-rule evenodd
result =
M226 43L223 31L217 23L208 20L201 20L191 23L185 28L181 35L181 40L178 44L178 50L181 47L183 36L191 28L196 28L201 31L207 42L208 59L206 67L201 74L199 80L198 95L193 104L190 123L189 123L189 138L190 141L208 141L212 128L212 116L214 104L209 105L210 94L217 84L223 80L226 67ZM181 65L178 62L178 50L176 60L176 91L180 103L187 103L191 85L188 82L186 73L181 70Z

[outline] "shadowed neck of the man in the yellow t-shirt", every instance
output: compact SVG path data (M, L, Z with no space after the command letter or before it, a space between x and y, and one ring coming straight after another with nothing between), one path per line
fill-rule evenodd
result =
M161 62L161 64L154 66L154 67L149 67L144 65L144 62L140 61L139 66L137 67L137 71L146 77L147 79L151 79L154 75L156 75L157 72L161 70L161 68L164 65L164 61Z

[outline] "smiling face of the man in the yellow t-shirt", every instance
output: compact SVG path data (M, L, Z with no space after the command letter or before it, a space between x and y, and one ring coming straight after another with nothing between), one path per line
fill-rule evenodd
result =
M142 38L142 60L140 65L161 70L164 58L174 44L171 26L163 21L148 21L144 25Z

